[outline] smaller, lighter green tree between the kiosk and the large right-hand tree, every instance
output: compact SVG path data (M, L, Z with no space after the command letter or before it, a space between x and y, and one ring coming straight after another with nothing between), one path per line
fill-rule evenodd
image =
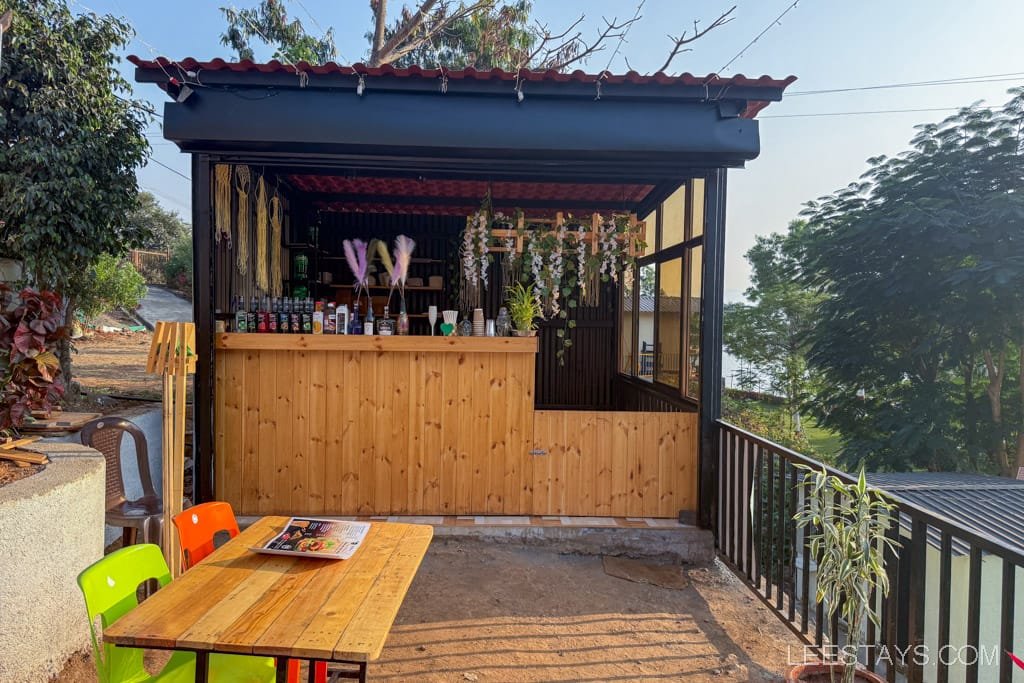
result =
M801 283L807 232L807 222L795 220L784 234L757 239L745 255L752 269L751 287L744 292L750 303L728 304L724 318L725 348L749 362L782 397L794 433L803 430L801 405L812 395L807 351L821 300Z

